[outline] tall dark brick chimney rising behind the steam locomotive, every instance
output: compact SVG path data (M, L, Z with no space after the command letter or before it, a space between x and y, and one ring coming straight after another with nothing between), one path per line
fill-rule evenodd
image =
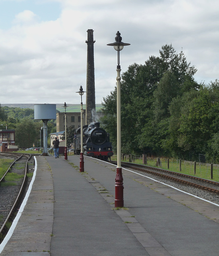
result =
M95 105L95 80L94 80L94 30L88 29L88 45L87 53L87 88L86 88L86 124L90 124L95 120L92 115L96 115Z

